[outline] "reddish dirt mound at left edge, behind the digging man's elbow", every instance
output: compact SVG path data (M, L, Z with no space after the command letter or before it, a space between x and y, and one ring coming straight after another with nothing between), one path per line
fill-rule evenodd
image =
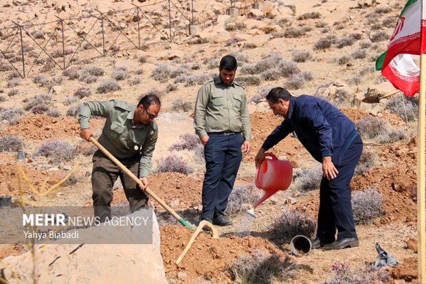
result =
M103 124L103 119L93 119L91 129L101 128ZM28 114L15 125L5 125L0 135L22 135L30 140L50 140L78 138L79 131L80 124L71 116L52 118L44 114Z

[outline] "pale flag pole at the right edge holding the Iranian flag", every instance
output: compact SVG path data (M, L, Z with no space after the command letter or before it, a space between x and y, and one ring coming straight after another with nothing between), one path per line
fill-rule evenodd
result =
M424 28L424 1L421 1L421 36L422 43ZM418 283L426 283L426 254L425 254L425 90L426 90L426 54L420 52L420 88L418 91L418 136L417 136L417 262Z

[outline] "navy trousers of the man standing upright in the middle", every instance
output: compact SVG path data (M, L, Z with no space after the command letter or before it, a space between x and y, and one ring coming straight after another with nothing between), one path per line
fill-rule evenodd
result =
M244 137L240 133L209 135L204 147L205 175L201 219L225 215L228 197L234 188L236 174L243 158L243 142Z

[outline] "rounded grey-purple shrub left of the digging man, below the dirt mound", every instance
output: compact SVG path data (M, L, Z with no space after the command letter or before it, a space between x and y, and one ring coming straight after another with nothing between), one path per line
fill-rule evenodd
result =
M76 157L76 147L66 140L52 140L43 142L34 153L35 157L47 157L50 162L59 164L60 162L71 161Z

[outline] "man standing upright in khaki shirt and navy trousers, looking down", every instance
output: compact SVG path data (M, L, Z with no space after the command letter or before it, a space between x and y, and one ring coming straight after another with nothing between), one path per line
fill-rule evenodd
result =
M201 219L218 226L232 224L224 211L243 157L241 146L245 154L251 147L245 89L234 82L236 68L234 56L221 59L218 78L199 89L194 111L195 133L205 157Z

